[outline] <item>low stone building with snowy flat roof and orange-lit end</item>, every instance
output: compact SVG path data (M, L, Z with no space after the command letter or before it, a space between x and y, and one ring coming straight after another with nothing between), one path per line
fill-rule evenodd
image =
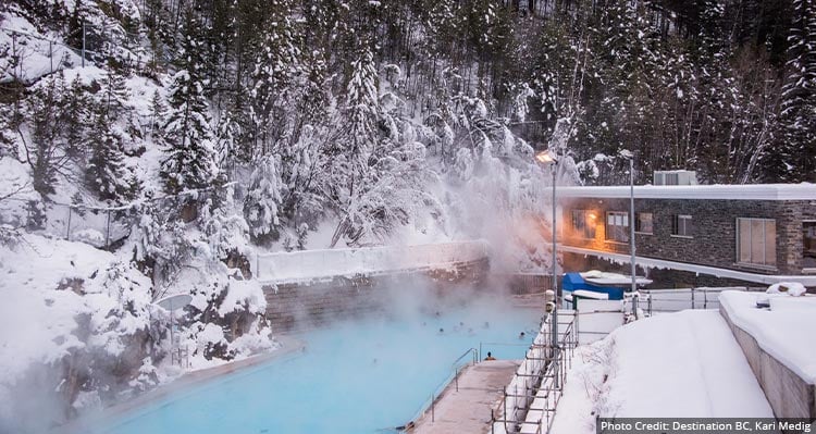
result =
M653 286L816 288L816 185L561 187L565 271L627 270L635 228L636 263Z

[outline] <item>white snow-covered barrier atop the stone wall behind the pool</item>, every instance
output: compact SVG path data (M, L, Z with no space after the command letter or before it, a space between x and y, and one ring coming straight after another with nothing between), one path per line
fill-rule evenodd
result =
M487 258L486 241L404 247L302 250L258 255L252 274L267 282L293 282L355 274L426 270Z

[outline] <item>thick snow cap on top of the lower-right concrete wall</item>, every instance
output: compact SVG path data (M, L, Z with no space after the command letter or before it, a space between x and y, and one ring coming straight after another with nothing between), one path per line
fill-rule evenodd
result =
M757 298L770 309L758 309ZM787 294L725 292L720 303L734 325L750 333L759 347L802 376L816 383L816 297Z

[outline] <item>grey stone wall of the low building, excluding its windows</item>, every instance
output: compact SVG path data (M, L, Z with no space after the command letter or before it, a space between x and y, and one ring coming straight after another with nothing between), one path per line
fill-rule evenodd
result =
M635 213L653 214L653 233L635 234L638 256L695 263L759 274L802 274L802 221L816 220L809 201L635 199ZM582 238L572 230L572 210L594 215L595 237ZM572 199L564 207L567 245L616 253L629 253L628 243L606 239L606 212L629 211L629 199ZM671 234L677 214L692 216L692 236ZM776 268L738 263L737 219L775 219Z

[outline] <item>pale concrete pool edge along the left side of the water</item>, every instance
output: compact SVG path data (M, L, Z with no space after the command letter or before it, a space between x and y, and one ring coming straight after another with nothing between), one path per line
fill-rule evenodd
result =
M120 418L126 417L127 413L133 412L134 410L148 406L150 404L156 404L157 401L166 399L168 397L171 397L173 395L182 394L191 387L214 380L215 377L232 374L252 367L258 367L260 364L264 364L272 360L280 359L289 355L297 355L306 349L306 343L288 335L277 335L275 336L275 339L277 340L280 346L274 350L262 352L256 356L250 356L245 359L226 362L218 367L187 372L170 383L163 384L152 390L137 395L132 399L108 407L98 412L88 413L78 419L72 420L64 425L51 430L49 434L75 434L94 432L92 429L98 429L104 423L113 422Z

